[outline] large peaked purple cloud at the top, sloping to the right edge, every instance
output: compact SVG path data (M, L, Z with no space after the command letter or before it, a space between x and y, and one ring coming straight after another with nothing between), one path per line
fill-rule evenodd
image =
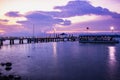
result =
M82 15L109 15L113 18L120 18L120 14L111 12L107 8L94 7L88 1L70 1L65 6L55 6L54 9L60 10L60 12L48 12L56 17L73 17Z

